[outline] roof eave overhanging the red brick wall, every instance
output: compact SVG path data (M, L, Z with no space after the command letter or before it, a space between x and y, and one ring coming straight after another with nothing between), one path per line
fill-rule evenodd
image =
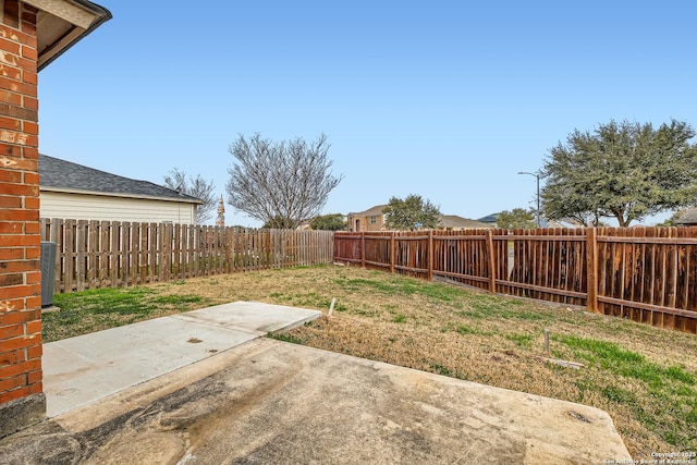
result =
M63 54L105 22L111 12L87 0L26 0L38 9L38 71Z

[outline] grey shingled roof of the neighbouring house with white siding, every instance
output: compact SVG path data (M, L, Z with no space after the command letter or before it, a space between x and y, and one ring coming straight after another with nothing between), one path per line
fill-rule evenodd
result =
M110 195L115 197L155 198L203 204L203 200L148 181L83 167L59 158L39 155L39 188L41 191Z

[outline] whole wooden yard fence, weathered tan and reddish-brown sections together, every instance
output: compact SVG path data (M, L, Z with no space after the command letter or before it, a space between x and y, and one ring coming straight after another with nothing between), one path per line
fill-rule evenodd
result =
M697 333L697 228L331 233L41 219L56 292L356 264Z

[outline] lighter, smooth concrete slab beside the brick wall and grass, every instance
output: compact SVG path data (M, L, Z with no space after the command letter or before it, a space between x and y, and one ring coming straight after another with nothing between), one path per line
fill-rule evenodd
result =
M317 310L235 302L45 344L47 416L319 316Z

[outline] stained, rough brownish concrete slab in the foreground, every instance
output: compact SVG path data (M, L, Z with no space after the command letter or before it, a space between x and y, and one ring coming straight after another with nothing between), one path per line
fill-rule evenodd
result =
M12 465L631 460L600 409L269 339L5 438L0 456Z

